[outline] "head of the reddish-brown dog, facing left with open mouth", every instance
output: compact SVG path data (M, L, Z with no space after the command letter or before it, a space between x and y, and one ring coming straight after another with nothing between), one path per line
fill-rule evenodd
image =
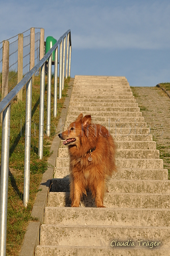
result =
M75 122L72 122L66 131L58 134L63 139L63 145L76 145L80 143L80 137L83 137L84 129L91 125L91 115L80 114Z

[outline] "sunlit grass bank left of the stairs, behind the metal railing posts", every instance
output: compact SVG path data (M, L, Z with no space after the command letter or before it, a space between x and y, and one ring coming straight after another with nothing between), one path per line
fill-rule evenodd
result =
M10 127L10 159L9 159L9 190L7 209L7 247L6 255L19 255L22 240L29 221L36 221L31 218L31 210L38 193L42 175L46 171L50 156L50 145L54 136L47 137L45 134L46 111L44 111L44 145L43 159L38 157L38 123L39 123L39 81L35 77L32 93L32 123L31 123L31 160L30 160L30 201L25 208L23 206L23 178L25 158L25 99L26 89L23 90L23 101L17 103L17 99L11 105L11 127ZM47 77L45 78L45 101L44 110L47 107ZM54 86L51 88L51 125L56 127L63 108L64 99L67 97L69 78L65 80L62 98L58 101L57 117L53 117ZM54 78L52 78L52 85ZM36 133L35 133L36 126ZM2 134L2 126L0 127ZM55 135L55 133L54 133ZM1 138L0 138L1 142ZM0 143L1 145L1 143Z

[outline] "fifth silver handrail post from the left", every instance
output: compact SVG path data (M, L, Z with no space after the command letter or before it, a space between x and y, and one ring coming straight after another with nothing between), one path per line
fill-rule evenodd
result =
M57 85L58 85L58 46L55 49L55 64L54 64L54 117L57 114Z

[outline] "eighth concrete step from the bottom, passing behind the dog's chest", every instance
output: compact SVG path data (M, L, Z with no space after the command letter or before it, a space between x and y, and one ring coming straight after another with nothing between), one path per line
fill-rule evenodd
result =
M58 157L68 157L68 149L61 148L58 152ZM132 150L118 149L116 158L159 158L159 150Z

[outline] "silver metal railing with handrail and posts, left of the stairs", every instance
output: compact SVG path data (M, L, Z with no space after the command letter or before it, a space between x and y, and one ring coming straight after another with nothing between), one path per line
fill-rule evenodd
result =
M67 37L67 47L66 47ZM54 117L57 113L57 85L58 85L58 47L59 47L59 99L62 97L64 88L64 74L70 77L71 67L71 31L59 38L55 45L46 55L33 67L6 95L0 102L0 114L3 111L2 121L2 153L1 153L1 194L0 194L0 250L1 256L6 255L6 228L7 228L7 192L9 175L9 142L10 142L10 109L11 102L19 91L26 85L26 121L25 121L25 167L24 167L24 190L23 205L27 206L30 192L30 142L31 142L31 95L33 75L41 69L40 84L40 105L39 105L39 158L43 157L43 127L44 127L44 83L45 83L45 63L48 60L47 74L47 126L46 134L50 136L50 116L51 116L51 65L52 52L55 51L54 63ZM66 65L65 65L66 62ZM66 70L66 72L65 72Z

